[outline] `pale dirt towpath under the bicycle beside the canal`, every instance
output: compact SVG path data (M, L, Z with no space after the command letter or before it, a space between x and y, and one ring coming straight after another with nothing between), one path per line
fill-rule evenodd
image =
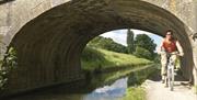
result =
M159 80L148 79L142 85L147 90L147 100L197 100L187 81L175 81L174 91L170 91Z

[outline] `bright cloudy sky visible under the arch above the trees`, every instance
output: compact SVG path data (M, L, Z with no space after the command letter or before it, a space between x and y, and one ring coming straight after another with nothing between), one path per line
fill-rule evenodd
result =
M162 37L159 35L155 35L153 33L150 32L146 32L146 31L140 31L140 30L132 30L132 32L135 33L135 36L137 34L147 34L149 37L151 37L152 40L154 40L154 43L157 44L157 46L160 45ZM120 43L123 45L127 45L127 30L116 30L116 31L111 31L111 32L106 32L104 34L101 34L101 36L104 37L111 37L113 38L116 43Z

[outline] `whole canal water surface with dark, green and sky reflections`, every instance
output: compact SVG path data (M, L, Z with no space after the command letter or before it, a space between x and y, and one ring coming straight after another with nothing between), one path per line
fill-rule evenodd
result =
M154 67L149 66L91 75L84 81L42 89L7 100L123 100L128 87L140 85L154 70Z

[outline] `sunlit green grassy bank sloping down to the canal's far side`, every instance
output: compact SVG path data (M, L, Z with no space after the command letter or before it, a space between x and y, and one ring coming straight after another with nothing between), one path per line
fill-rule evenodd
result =
M134 67L138 65L151 64L151 60L138 58L134 55L109 52L102 48L86 47L81 58L82 69L109 69L117 67Z

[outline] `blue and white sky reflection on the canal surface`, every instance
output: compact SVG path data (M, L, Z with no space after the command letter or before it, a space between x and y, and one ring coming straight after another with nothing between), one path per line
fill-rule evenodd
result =
M104 86L95 89L84 97L84 100L119 100L126 93L128 78L116 80L111 86Z

